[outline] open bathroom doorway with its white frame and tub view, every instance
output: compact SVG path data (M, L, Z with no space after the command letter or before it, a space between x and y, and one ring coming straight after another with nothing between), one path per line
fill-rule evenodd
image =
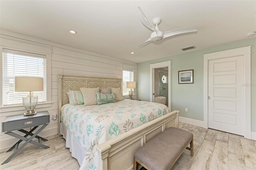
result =
M150 64L150 101L171 110L171 61Z

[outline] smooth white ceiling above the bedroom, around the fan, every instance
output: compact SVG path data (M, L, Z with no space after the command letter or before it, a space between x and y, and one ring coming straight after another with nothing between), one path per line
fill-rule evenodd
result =
M160 30L194 27L159 42L138 18L160 17ZM0 28L132 62L144 62L245 39L256 31L256 1L0 1ZM69 30L77 34L70 34ZM192 50L190 50L192 51ZM135 54L130 54L135 52Z

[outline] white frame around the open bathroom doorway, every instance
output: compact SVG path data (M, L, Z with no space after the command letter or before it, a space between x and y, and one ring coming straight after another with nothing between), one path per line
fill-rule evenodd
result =
M171 111L171 60L150 64L150 102L154 102L154 69L168 67L168 108Z

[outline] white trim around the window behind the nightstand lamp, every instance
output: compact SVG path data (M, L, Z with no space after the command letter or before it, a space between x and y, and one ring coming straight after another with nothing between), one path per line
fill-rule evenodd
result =
M3 73L2 73L2 69L3 69L2 68L3 48L10 49L10 50L16 50L16 51L22 51L22 52L28 52L28 53L44 55L44 56L46 56L46 102L38 103L36 108L51 107L51 105L52 105L51 55L49 55L47 53L37 52L37 48L34 48L35 45L24 44L24 43L21 43L21 42L15 42L15 43L19 44L19 46L21 48L17 49L17 48L12 48L10 46L0 46L0 53L1 53L0 54L0 73L1 73L1 75L0 75L0 82L3 82ZM35 51L28 51L28 50L26 50L26 48L29 48L28 47L29 45L31 45L32 50L35 50ZM36 46L36 47L40 48L41 46ZM42 47L42 48L45 48L45 47ZM0 83L0 92L1 92L1 94L3 94L2 83ZM0 98L1 98L1 100L0 100L1 113L24 110L24 107L23 107L22 104L3 106L3 95L1 95ZM13 108L13 109L10 109L10 108Z

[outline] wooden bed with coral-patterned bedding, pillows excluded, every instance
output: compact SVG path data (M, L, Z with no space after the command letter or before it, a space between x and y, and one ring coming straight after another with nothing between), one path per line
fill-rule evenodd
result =
M80 169L132 169L133 153L171 126L178 127L179 111L163 104L125 99L83 106L68 104L68 90L80 87L121 87L122 79L58 75L59 135L78 160Z

